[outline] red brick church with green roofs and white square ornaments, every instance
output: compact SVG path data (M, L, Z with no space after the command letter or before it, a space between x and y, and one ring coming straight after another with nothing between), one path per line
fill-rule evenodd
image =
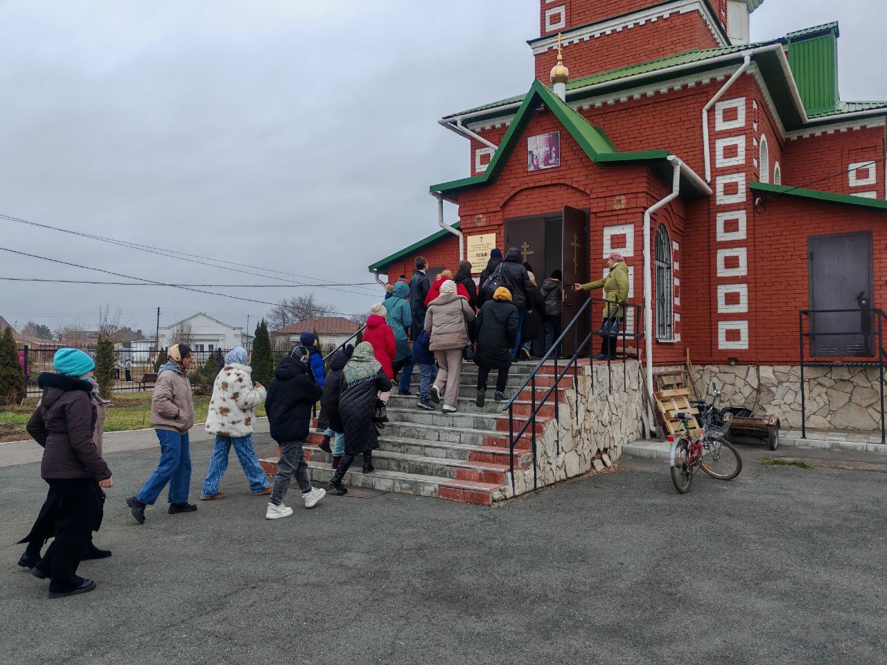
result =
M471 175L430 187L459 222L370 270L393 282L424 254L479 275L491 246L517 246L569 285L618 251L657 365L687 348L696 364L797 364L799 310L883 307L887 102L840 98L836 23L750 43L763 2L540 0L530 90L440 121L470 145ZM839 335L807 351L875 353Z

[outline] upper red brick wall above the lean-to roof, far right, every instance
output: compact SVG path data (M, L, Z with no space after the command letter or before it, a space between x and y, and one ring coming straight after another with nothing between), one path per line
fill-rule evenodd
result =
M782 184L857 196L875 192L875 198L884 199L884 126L880 122L869 127L861 121L852 127L866 125L864 129L844 125L844 129L819 130L828 133L789 138ZM851 168L872 160L877 162L872 171Z

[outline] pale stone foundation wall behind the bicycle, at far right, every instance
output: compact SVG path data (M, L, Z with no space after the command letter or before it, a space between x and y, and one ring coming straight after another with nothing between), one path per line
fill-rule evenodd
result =
M800 365L704 365L695 367L697 390L710 395L711 381L721 389L721 404L751 409L781 419L782 427L801 426ZM807 427L873 431L881 426L878 370L805 367ZM758 391L759 388L759 391Z

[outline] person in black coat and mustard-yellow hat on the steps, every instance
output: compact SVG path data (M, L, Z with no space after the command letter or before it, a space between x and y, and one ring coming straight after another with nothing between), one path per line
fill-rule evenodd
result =
M477 327L477 402L483 406L487 393L487 377L498 370L496 401L505 401L508 368L511 367L511 349L517 337L517 308L511 302L511 292L500 286L491 301L483 303L475 319Z

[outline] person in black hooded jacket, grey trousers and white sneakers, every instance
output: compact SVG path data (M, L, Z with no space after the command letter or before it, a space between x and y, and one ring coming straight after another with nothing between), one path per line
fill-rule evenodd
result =
M308 461L302 450L310 434L311 409L323 393L311 374L309 355L309 349L300 345L283 358L274 368L274 378L265 398L271 438L280 448L278 473L274 476L274 489L265 512L267 520L293 514L293 509L283 503L293 477L302 489L306 508L313 508L326 494L324 489L311 487Z

